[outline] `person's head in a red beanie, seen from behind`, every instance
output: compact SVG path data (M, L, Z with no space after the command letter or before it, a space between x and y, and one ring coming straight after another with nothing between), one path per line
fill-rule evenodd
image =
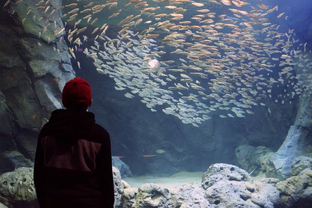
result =
M86 111L92 104L91 86L80 77L66 82L63 88L62 103L68 110Z

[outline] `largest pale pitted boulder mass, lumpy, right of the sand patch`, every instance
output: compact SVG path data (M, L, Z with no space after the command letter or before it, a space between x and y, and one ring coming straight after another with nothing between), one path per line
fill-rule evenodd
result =
M204 198L215 207L274 208L280 204L277 179L251 180L237 166L213 164L202 178Z

